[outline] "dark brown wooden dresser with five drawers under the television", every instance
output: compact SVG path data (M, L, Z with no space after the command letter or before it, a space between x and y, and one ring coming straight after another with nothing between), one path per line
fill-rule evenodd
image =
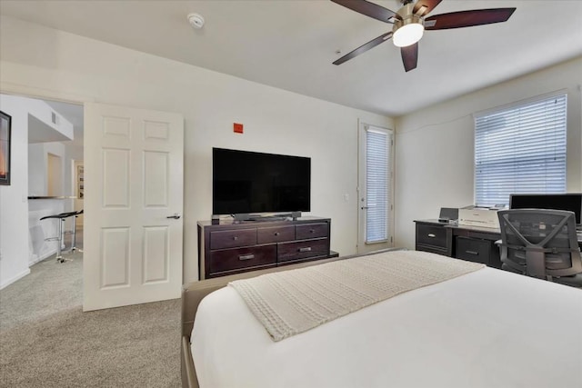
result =
M200 280L279 265L337 257L330 251L331 220L198 221Z

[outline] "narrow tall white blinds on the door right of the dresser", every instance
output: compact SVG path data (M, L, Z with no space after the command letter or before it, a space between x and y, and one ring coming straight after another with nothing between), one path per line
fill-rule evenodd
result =
M366 243L388 238L391 141L386 131L366 129Z

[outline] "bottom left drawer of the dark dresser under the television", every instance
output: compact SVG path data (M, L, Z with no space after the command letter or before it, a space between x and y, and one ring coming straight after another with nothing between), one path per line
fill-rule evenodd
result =
M276 244L210 253L210 274L276 264Z

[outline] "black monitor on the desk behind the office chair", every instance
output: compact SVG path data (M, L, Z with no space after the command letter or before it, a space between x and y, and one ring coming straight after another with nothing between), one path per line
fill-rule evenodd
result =
M582 224L582 194L511 194L509 209L567 210L576 215L576 224Z

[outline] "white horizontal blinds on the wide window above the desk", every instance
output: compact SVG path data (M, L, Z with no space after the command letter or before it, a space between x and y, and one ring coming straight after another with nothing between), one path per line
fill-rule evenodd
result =
M557 95L476 116L477 205L566 192L566 106L567 95Z

